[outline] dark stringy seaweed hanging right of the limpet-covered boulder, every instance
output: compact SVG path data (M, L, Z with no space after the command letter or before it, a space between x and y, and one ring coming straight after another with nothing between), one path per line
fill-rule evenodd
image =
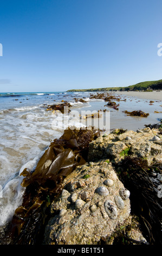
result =
M162 202L159 196L161 164L148 166L140 157L126 156L118 166L118 175L131 192L131 209L139 217L141 229L150 244L161 244Z

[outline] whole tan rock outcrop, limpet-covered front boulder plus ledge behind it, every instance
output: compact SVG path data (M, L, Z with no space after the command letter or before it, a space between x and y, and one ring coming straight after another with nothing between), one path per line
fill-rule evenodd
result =
M64 179L62 194L51 203L43 243L112 244L112 237L127 227L129 239L146 242L138 222L133 224L130 193L115 166L127 155L141 157L148 165L159 163L161 154L159 130L150 127L137 132L116 129L90 142L89 161Z

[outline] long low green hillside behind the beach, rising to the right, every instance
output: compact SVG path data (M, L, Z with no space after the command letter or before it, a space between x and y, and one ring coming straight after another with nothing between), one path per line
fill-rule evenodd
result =
M107 92L107 91L135 91L135 90L161 90L162 80L158 81L146 81L133 84L133 86L127 87L106 87L106 88L95 88L95 89L72 89L67 92Z

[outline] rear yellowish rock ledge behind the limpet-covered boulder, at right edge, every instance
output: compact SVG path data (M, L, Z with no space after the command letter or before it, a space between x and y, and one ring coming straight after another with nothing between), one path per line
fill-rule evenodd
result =
M129 154L142 157L148 164L162 162L162 136L158 129L146 127L141 130L126 131L118 134L116 129L109 135L100 136L89 144L89 161L108 157L114 162L118 162Z

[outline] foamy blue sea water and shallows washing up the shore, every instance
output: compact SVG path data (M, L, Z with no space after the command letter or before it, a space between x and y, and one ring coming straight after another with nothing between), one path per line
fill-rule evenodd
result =
M104 100L90 99L91 94L96 93L0 93L0 227L12 218L15 209L22 203L24 188L20 173L24 168L33 170L50 142L59 138L66 127L86 126L82 118L85 111L109 110L106 132L121 127L135 131L145 124L158 123L158 118L161 118L161 113L154 113L162 111L161 101L150 105L150 100L117 94L120 98L119 102L116 101L119 103L117 111L106 107ZM74 98L86 102L75 102ZM60 113L47 111L48 105L62 101L72 105L71 114L64 119ZM138 109L150 115L147 118L128 117L122 112Z

